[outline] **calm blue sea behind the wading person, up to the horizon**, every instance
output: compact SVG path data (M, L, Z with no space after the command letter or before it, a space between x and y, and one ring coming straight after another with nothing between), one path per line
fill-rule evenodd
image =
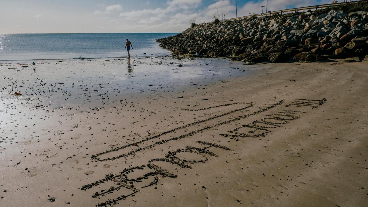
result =
M0 34L0 61L127 57L125 39L133 45L131 57L166 55L156 39L177 33L62 33ZM146 54L143 54L146 53Z

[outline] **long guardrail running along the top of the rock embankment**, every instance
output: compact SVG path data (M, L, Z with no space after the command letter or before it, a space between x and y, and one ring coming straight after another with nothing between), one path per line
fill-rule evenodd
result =
M271 12L264 12L261 14L251 14L251 15L247 15L247 16L243 16L243 17L237 17L237 18L230 18L230 19L223 19L221 21L234 21L236 19L240 20L240 19L247 19L250 17L262 17L262 16L268 16L268 15L272 15L272 14L283 14L284 12L297 12L297 11L301 11L301 10L317 10L319 8L327 8L327 7L336 7L336 6L345 6L346 4L356 4L356 3L361 3L361 2L366 2L368 3L368 0L358 0L358 1L350 1L350 2L342 2L342 3L335 3L335 4L320 4L320 5L315 5L315 6L308 6L308 7L298 7L298 8L290 8L290 9L283 9L283 10L278 10L278 11L271 11Z

